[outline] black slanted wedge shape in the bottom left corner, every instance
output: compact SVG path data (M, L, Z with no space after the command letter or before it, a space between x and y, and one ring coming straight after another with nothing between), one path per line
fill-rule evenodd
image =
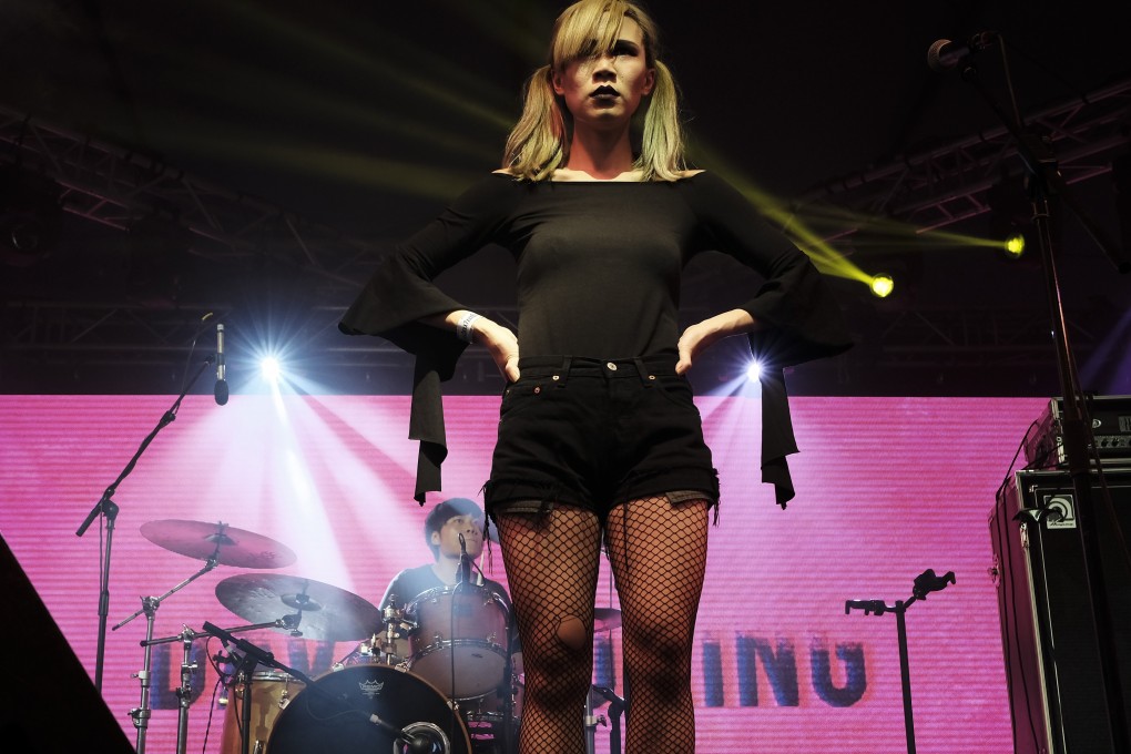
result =
M0 537L6 650L0 690L0 752L132 754L83 664Z

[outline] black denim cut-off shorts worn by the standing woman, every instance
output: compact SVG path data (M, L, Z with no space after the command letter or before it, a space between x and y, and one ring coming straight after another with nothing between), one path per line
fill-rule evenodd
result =
M487 513L563 503L604 522L651 495L718 502L691 384L672 358L530 357L519 372L502 397Z

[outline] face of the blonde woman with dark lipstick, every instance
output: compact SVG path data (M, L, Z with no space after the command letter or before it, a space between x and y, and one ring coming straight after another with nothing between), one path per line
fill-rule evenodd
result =
M647 67L644 33L623 18L612 50L579 58L553 75L554 92L566 99L573 128L624 128L651 94L656 72Z

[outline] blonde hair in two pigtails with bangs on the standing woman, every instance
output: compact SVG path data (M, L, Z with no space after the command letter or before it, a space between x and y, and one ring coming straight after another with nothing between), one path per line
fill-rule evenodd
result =
M625 0L580 0L567 8L554 23L550 41L550 63L538 68L526 81L523 115L507 138L502 166L520 179L543 181L569 159L572 116L554 93L553 73L599 50L612 49L620 21L631 18L644 34L645 62L655 70L651 95L642 103L645 111L633 118L633 168L641 181L675 181L684 168L683 129L680 124L679 92L667 66L657 58L658 29L638 6Z

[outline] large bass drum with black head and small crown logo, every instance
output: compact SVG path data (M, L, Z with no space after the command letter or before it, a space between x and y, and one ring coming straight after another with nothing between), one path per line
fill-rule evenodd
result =
M385 726L372 721L377 716ZM422 742L420 751L470 754L467 728L434 686L385 665L353 665L319 676L275 720L269 754L400 754L397 733Z

